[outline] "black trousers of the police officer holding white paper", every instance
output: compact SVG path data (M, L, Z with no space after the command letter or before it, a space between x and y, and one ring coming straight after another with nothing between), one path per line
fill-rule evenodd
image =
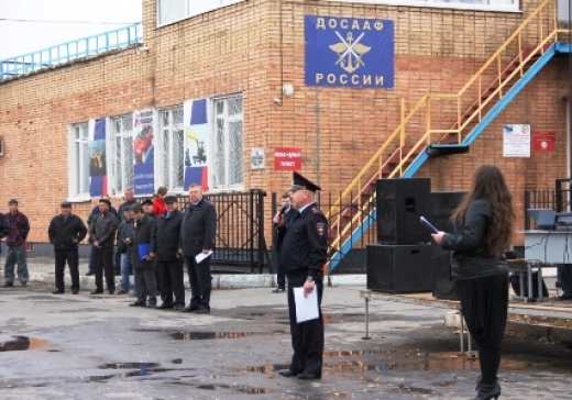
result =
M321 313L321 298L323 292L322 279L316 279L318 290L318 308L320 316L317 320L296 322L296 302L294 300L294 288L301 288L306 282L307 275L288 276L288 313L290 318L290 335L294 355L292 357L290 370L297 374L306 373L321 377L323 355L323 319Z

